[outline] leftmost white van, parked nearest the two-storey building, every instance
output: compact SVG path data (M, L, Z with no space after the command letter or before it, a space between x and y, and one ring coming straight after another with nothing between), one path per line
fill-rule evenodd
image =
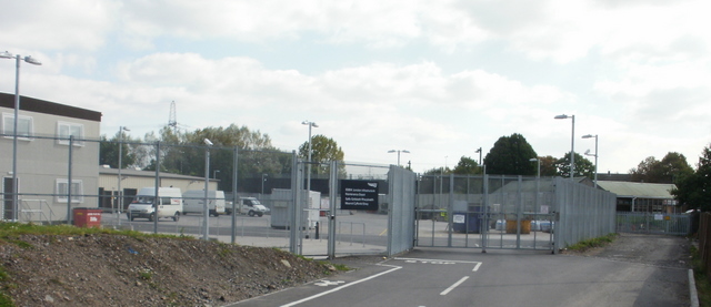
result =
M159 187L158 188L158 202L156 202L156 187L142 187L136 194L136 198L129 205L129 209L126 215L129 221L133 218L148 218L153 221L156 218L154 208L158 205L158 218L172 217L178 222L180 213L182 212L182 194L180 188L177 187Z

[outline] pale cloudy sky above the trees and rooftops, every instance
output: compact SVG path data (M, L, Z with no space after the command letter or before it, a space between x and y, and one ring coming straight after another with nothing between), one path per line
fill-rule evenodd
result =
M599 171L711 142L708 0L0 0L0 51L32 55L23 95L99 111L101 133L232 123L292 151L417 172L522 134ZM0 60L0 92L14 62ZM593 157L590 157L592 161Z

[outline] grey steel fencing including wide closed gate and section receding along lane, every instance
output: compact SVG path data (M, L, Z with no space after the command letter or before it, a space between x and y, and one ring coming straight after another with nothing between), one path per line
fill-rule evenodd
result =
M555 252L613 233L614 199L561 177L421 176L417 246Z

